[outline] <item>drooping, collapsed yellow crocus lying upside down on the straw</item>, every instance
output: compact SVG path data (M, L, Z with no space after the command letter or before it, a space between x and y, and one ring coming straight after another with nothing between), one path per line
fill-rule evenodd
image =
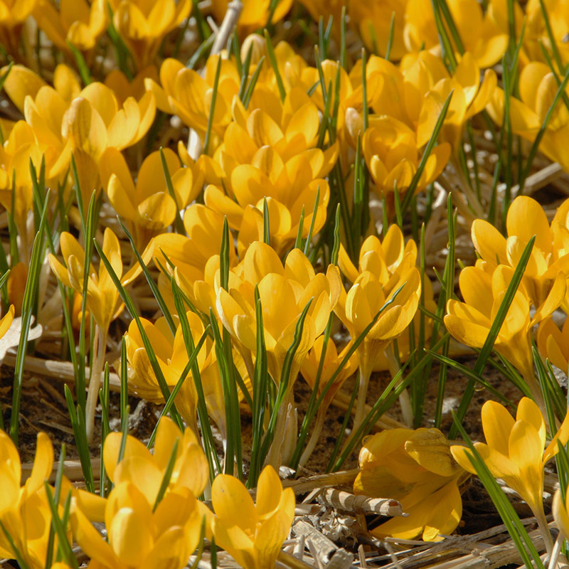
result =
M377 538L440 541L462 516L459 484L467 473L452 458L438 429L393 429L368 437L359 456L354 494L389 496L407 517L395 517L370 531Z

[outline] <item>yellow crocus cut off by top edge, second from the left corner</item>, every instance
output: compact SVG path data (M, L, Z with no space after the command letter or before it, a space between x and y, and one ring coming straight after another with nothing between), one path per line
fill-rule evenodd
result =
M95 48L97 39L107 28L105 2L63 0L57 9L50 0L38 0L33 17L38 27L58 49L70 52L68 42L80 51Z

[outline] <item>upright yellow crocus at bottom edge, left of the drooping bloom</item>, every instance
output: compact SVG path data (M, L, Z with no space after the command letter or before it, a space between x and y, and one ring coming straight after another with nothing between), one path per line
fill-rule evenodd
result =
M294 518L294 492L282 489L278 474L265 467L257 484L257 504L243 482L219 474L211 486L218 546L245 569L272 569Z

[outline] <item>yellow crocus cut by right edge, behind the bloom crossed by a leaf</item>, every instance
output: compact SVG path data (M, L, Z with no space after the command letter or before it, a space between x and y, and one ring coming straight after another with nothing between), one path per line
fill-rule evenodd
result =
M515 269L528 241L536 236L522 280L536 308L534 324L551 314L562 302L566 307L563 281L569 278L569 250L563 243L568 233L563 213L568 206L569 203L559 208L559 216L550 226L537 201L528 196L517 197L506 217L506 238L486 220L477 219L472 223L474 247L492 267L499 262Z

